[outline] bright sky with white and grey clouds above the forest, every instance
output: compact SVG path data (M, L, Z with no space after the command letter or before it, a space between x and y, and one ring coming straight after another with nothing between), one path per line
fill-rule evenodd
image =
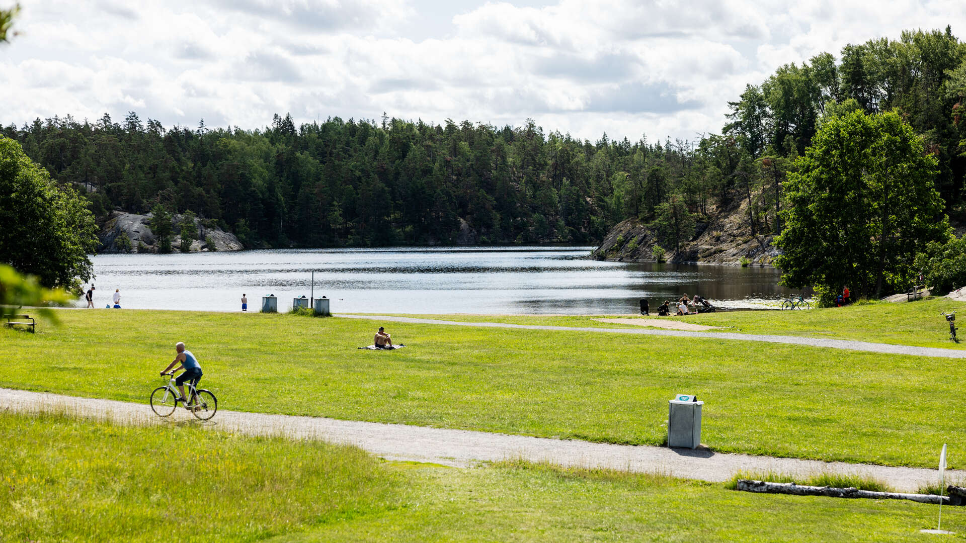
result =
M966 1L19 0L0 123L403 119L694 139L777 67L945 28ZM10 0L0 0L0 6ZM760 4L760 5L758 5Z

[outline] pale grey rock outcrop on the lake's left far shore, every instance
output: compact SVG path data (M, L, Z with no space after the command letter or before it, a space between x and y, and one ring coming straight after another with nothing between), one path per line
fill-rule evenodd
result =
M152 214L128 214L122 211L114 211L107 218L107 222L100 229L100 249L98 252L157 252L157 239L151 231ZM172 225L181 224L184 215L176 214L172 217ZM234 234L225 232L220 228L206 226L203 219L195 218L194 224L198 229L198 239L191 242L191 251L237 251L244 248L239 239ZM173 231L178 229L173 227ZM122 234L124 236L122 236ZM127 236L130 248L127 249L123 242ZM208 241L212 245L209 245ZM181 245L181 236L177 233L171 235L172 250L177 251Z

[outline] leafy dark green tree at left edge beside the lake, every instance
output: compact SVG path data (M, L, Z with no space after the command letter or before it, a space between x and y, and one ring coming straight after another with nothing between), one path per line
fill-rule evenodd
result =
M0 263L36 275L45 287L88 281L98 227L84 200L50 180L20 145L0 135Z

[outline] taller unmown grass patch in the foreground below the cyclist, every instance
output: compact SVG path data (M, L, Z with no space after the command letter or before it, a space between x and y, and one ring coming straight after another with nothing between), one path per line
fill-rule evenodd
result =
M0 541L253 541L403 504L361 449L0 414Z

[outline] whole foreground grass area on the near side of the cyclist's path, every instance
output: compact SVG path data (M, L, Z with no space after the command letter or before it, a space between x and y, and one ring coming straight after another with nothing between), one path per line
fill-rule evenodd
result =
M927 541L935 505L0 414L2 541ZM13 445L13 446L12 446ZM944 528L966 531L960 508Z

